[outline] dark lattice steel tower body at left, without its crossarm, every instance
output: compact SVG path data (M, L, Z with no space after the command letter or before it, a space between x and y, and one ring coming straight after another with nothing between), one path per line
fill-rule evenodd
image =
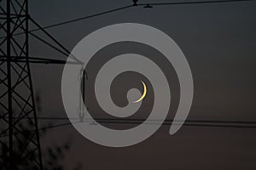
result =
M28 59L28 0L0 4L0 167L43 169Z

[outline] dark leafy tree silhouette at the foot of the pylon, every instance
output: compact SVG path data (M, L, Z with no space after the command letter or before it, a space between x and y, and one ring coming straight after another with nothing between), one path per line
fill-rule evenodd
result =
M22 135L19 133L14 133L15 138L13 138L13 160L15 170L26 170L26 169L38 169L37 165L31 163L38 157L35 152L27 155L26 159L22 158L20 154L24 153L27 147L30 145L26 145L29 143L29 137L31 137L31 128L32 122L22 122L19 124L20 129L22 131ZM40 138L43 138L47 130L44 129L40 131ZM10 170L9 169L9 150L8 150L8 135L1 136L0 138L0 169L1 170ZM46 150L42 150L43 153L43 164L44 170L63 170L63 160L67 154L67 151L70 149L70 142L64 142L63 144L54 144L53 146L49 146ZM32 150L32 148L29 148ZM77 167L74 167L74 170L81 169L81 164L78 164Z

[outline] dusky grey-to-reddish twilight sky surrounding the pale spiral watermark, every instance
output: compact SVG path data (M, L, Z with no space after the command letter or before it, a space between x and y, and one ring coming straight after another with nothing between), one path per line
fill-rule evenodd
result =
M30 1L30 14L41 26L47 26L130 3L127 0ZM195 82L189 120L256 121L253 105L256 96L255 8L255 2L134 7L48 31L72 50L82 38L103 26L124 22L154 26L172 37L189 61ZM143 53L136 44L128 47ZM100 55L123 50L125 45L119 44L118 50L112 47ZM144 54L153 53L147 50ZM34 39L31 39L31 54L66 59ZM34 89L42 99L40 116L66 116L61 100L62 69L63 65L32 65ZM167 74L176 82L171 88L174 97L169 116L172 117L177 107L178 88L173 71ZM40 122L41 126L45 124L46 121ZM168 134L168 129L168 126L160 127L143 143L122 149L93 144L72 126L49 131L41 143L46 147L71 140L73 147L67 153L67 169L77 162L82 162L84 169L256 168L255 129L182 127L173 136Z

